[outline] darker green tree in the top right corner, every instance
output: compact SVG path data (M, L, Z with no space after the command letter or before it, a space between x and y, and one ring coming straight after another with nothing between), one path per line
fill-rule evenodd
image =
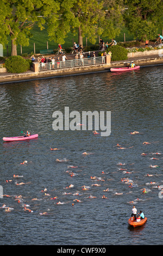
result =
M124 0L128 8L124 13L124 19L129 31L135 39L142 41L146 38L153 39L158 29L163 27L161 11L162 0Z

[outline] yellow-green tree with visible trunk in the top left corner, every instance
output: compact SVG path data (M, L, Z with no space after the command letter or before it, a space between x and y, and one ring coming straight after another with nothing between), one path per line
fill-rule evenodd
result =
M57 21L59 3L53 0L1 0L0 42L8 44L11 39L11 56L17 55L17 44L29 45L34 24L40 29L48 20Z

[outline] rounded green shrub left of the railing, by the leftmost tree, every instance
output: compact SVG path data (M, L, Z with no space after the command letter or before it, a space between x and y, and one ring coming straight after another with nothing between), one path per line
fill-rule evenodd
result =
M5 61L5 67L8 72L22 73L30 69L28 60L23 59L21 56L11 56Z

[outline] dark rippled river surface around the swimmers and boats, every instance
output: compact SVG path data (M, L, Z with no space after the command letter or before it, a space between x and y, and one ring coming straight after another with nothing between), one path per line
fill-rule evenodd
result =
M162 245L162 72L151 66L1 84L0 206L11 208L0 209L1 245ZM52 114L65 107L111 111L110 136L82 126L54 131ZM2 141L27 130L39 137ZM133 205L148 218L135 229Z

